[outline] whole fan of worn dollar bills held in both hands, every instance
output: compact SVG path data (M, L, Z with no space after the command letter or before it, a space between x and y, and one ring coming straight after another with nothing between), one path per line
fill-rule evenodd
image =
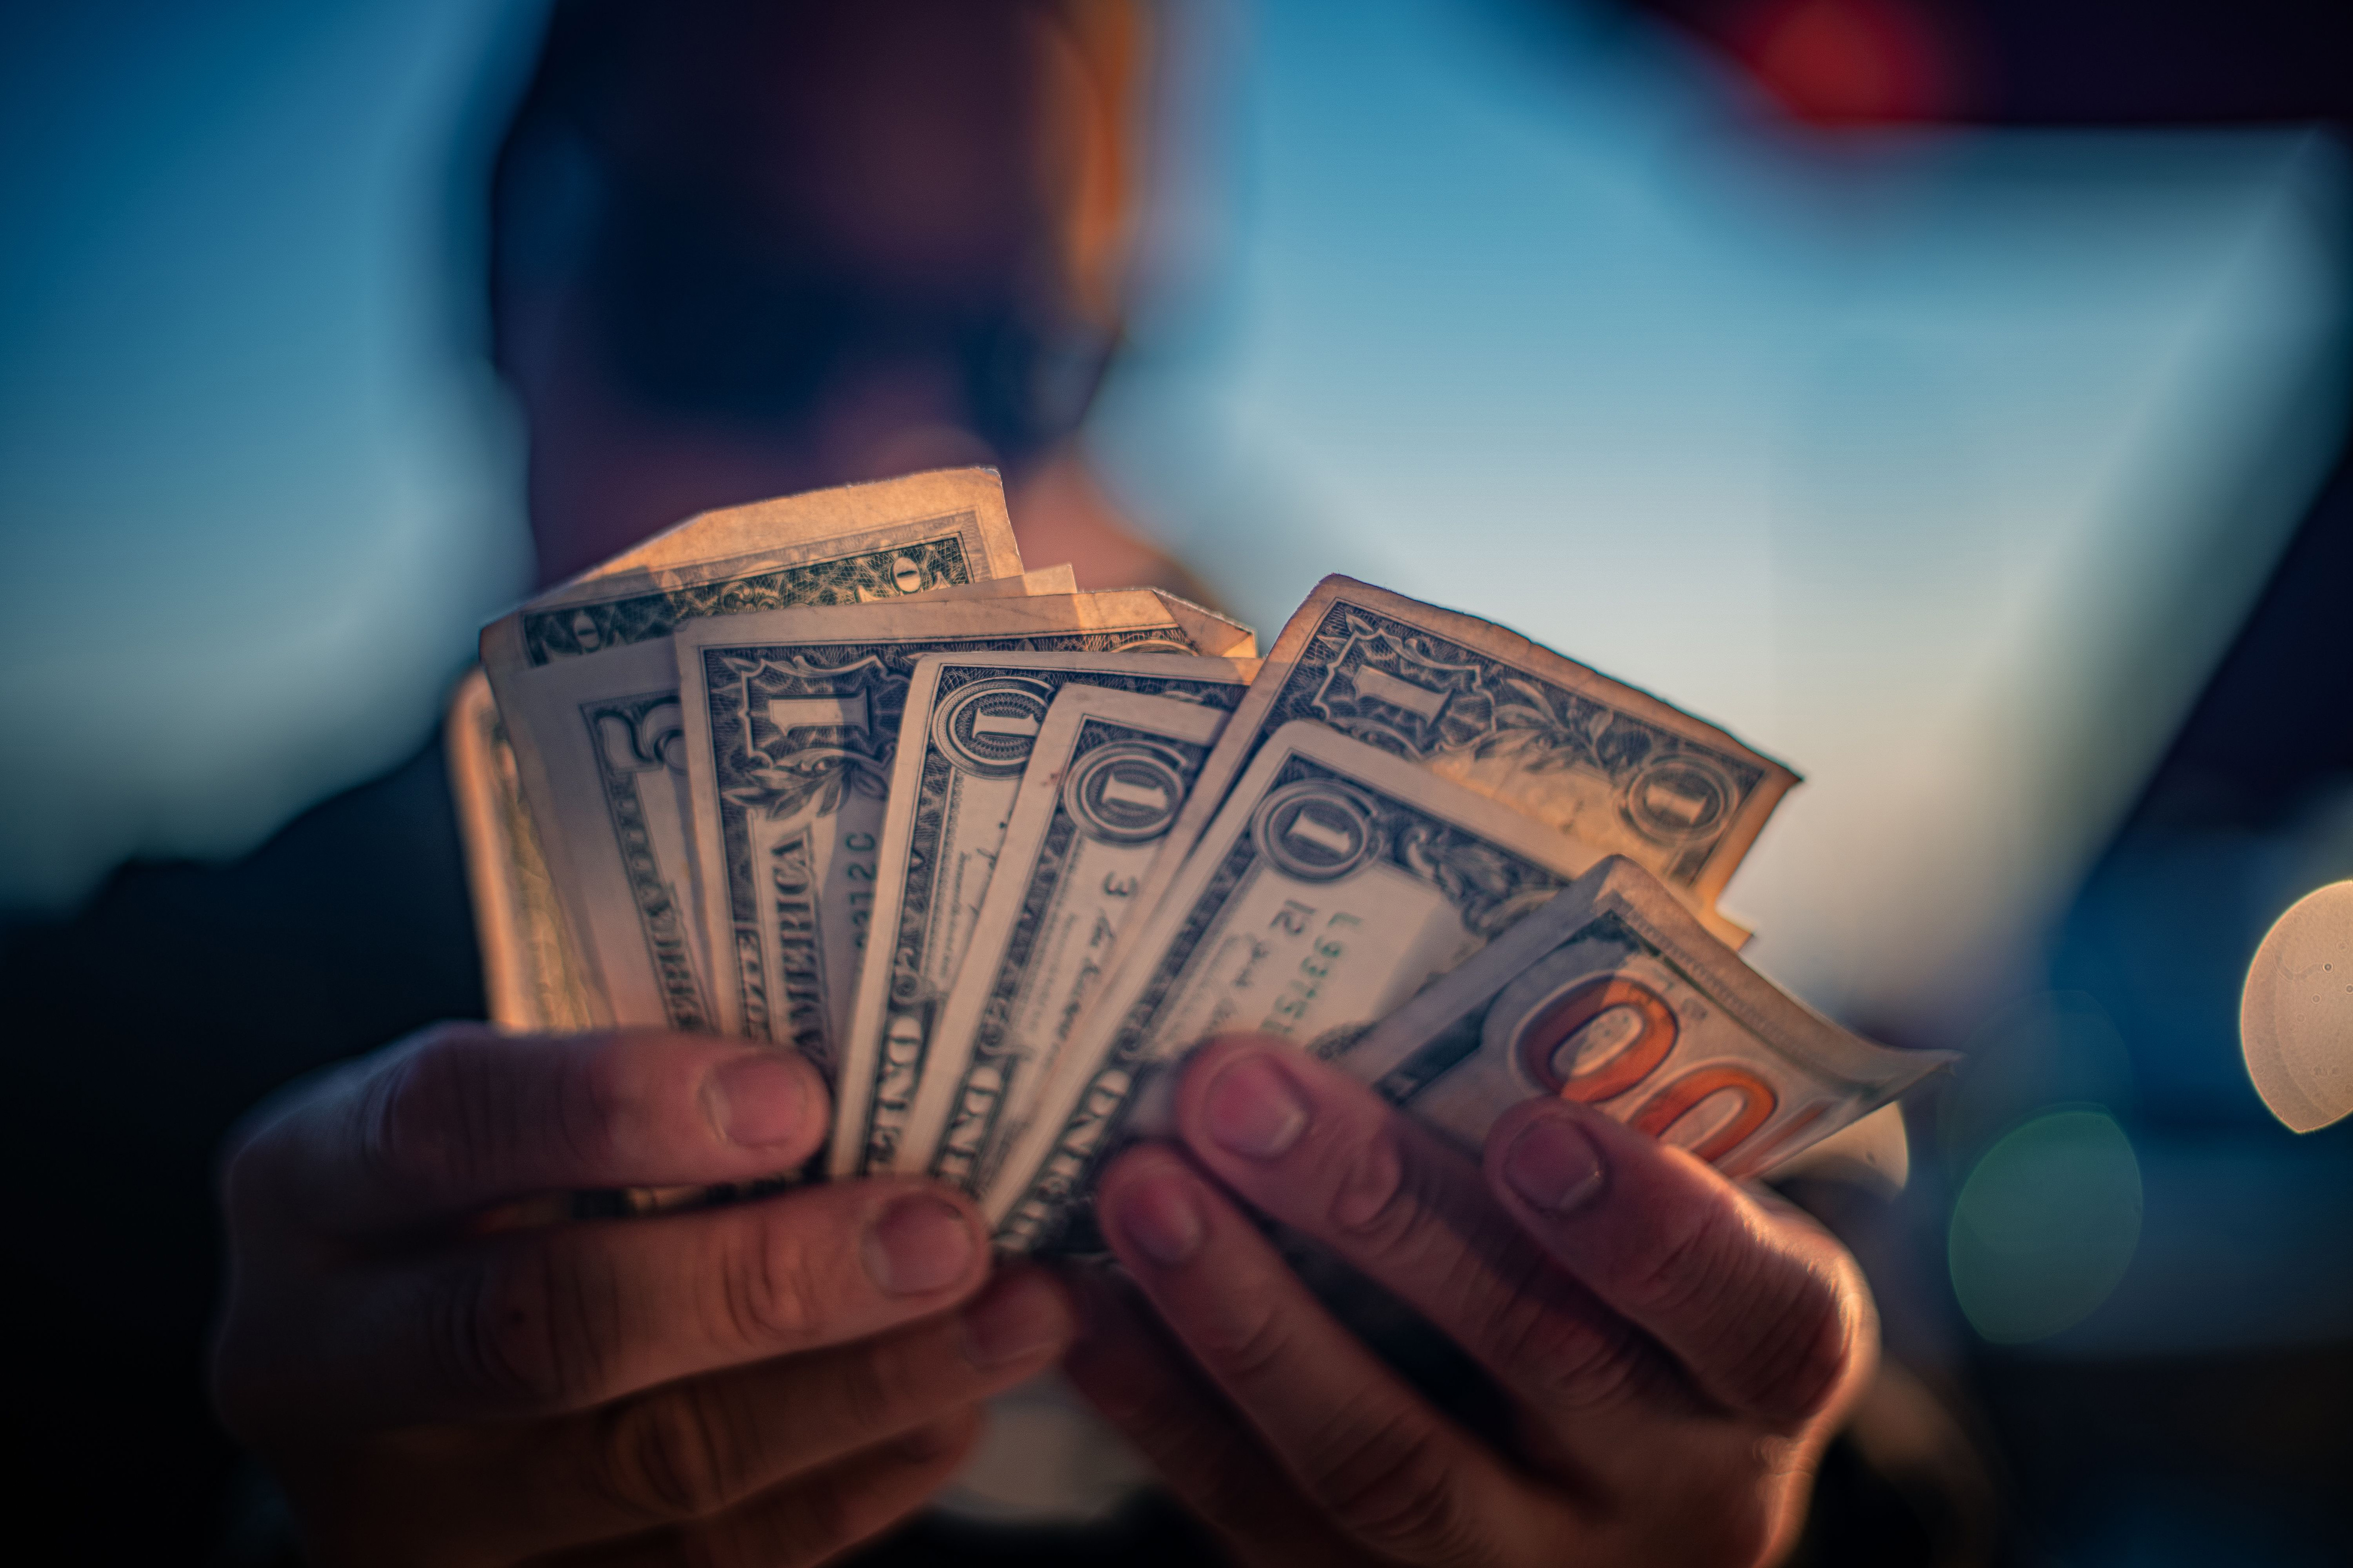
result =
M833 1081L826 1175L1068 1239L1162 1065L1294 1041L1475 1147L1529 1095L1762 1173L1946 1058L1715 910L1795 773L1487 621L1325 578L1261 661L1024 571L998 477L704 512L482 632L449 762L492 1013Z

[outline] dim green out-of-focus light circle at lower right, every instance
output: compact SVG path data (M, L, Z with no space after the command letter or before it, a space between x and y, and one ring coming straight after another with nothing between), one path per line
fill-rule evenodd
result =
M2115 1291L2141 1241L2141 1161L2101 1110L2054 1110L2014 1128L1953 1204L1953 1295L1988 1340L2042 1340Z

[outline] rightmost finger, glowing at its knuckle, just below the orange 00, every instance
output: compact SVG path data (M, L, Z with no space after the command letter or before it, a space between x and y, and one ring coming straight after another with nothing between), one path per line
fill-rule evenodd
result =
M1871 1298L1845 1248L1765 1213L1685 1150L1532 1100L1487 1133L1487 1185L1732 1410L1798 1425L1868 1368Z

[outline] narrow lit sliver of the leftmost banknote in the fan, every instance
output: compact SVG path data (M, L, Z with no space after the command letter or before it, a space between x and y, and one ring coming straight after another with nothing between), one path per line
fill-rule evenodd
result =
M595 1009L480 668L456 684L442 733L489 1018L508 1030L586 1030Z

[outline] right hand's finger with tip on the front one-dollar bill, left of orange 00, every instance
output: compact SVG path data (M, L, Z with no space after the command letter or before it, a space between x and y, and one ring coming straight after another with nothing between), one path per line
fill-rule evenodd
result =
M1186 1067L1176 1119L1233 1192L1555 1422L1609 1410L1624 1427L1689 1406L1659 1352L1522 1234L1478 1166L1348 1074L1266 1037L1212 1041Z

